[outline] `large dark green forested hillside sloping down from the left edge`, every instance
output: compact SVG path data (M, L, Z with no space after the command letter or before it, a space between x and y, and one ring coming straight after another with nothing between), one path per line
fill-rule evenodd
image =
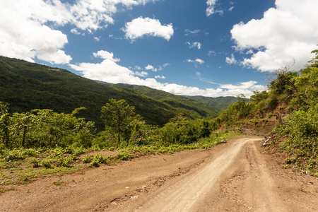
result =
M198 117L129 88L96 83L64 69L0 57L0 101L10 104L10 112L36 108L69 113L76 107L86 107L79 115L102 129L100 110L110 98L134 105L147 124L162 126L176 115Z

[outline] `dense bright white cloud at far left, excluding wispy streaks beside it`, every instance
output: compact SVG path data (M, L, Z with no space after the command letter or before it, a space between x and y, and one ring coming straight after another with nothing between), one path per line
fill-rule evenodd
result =
M0 54L53 64L67 64L71 56L61 49L68 43L66 35L44 23L48 20L63 25L65 16L60 5L37 1L0 1Z

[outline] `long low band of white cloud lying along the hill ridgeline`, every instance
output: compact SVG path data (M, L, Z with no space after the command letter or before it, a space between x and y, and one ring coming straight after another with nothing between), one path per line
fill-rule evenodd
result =
M100 51L101 52L101 51ZM102 51L106 52L106 51ZM98 54L98 53L96 53ZM155 78L141 79L139 77L146 77L147 73L134 72L124 66L116 64L113 57L104 59L101 63L81 63L69 64L72 69L80 71L84 77L98 81L105 81L107 83L128 83L131 85L148 86L158 90L164 90L175 95L203 95L208 97L219 96L237 96L245 94L247 98L253 94L254 90L265 90L264 86L257 84L255 81L240 83L238 86L220 85L220 88L206 88L199 89L196 87L181 86L175 83L159 83L155 78L165 78L165 76L155 76ZM216 84L216 83L215 83Z

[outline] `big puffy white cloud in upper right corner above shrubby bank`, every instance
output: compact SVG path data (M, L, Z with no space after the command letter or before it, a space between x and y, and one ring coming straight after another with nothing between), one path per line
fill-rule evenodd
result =
M259 71L275 71L293 64L302 69L317 49L318 1L276 0L264 17L234 25L231 33L237 50L254 49L242 65Z

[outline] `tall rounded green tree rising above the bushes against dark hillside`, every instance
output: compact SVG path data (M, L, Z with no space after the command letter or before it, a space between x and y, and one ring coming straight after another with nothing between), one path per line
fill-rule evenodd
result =
M121 142L123 134L130 136L130 126L134 126L132 122L135 119L140 119L140 117L136 117L134 110L135 107L127 104L126 100L110 99L110 102L102 107L102 119L105 120L105 127L117 134L117 145Z

